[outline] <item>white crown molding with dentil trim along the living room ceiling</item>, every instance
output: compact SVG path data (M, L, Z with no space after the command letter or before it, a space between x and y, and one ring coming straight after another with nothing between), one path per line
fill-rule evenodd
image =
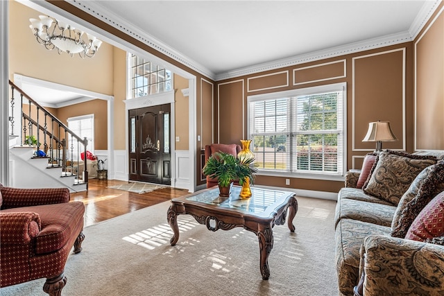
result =
M26 0L19 0L26 1ZM35 0L31 0L35 2ZM180 62L180 64L189 67L203 76L210 78L215 81L237 78L239 76L244 76L252 73L259 73L262 71L268 71L273 69L279 69L282 67L294 66L296 64L302 64L305 62L313 62L316 60L322 60L325 58L334 58L340 55L346 55L350 53L357 53L359 51L366 51L369 49L377 49L383 46L390 46L395 44L400 44L403 42L411 42L418 35L420 30L425 26L428 19L432 17L432 14L438 8L441 0L425 1L421 10L416 15L413 23L411 24L409 31L404 31L401 33L395 33L392 35L385 35L382 37L376 37L370 40L364 40L361 42L353 42L350 44L344 44L342 46L336 46L329 49L323 49L321 51L314 51L311 53L305 53L302 55L294 55L290 58L285 58L281 60L275 60L271 62L265 62L262 64L255 64L251 67L244 67L240 69L234 69L225 73L214 73L207 69L198 62L191 60L182 53L171 48L167 44L164 44L160 40L157 40L152 35L145 33L144 30L130 24L126 19L115 15L114 13L107 10L105 6L102 6L100 1L87 1L87 0L66 0L73 6L76 6L80 10L87 12L89 15L100 19L101 21L109 24L110 26L117 28L119 31L134 37L140 42L150 46L151 48L159 51L160 53L169 56L173 60ZM40 1L39 1L40 2ZM45 1L43 1L45 2Z

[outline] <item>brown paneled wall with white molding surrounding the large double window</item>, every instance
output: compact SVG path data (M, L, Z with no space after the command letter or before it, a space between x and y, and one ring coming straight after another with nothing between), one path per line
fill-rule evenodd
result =
M348 168L360 168L364 155L375 149L375 143L361 141L371 121L391 121L399 141L384 143L384 148L411 151L412 56L409 42L216 82L214 132L221 143L246 137L248 96L347 82ZM404 130L409 131L405 137ZM286 178L259 176L256 184L285 187ZM342 181L290 179L288 187L296 189L337 192L343 187Z

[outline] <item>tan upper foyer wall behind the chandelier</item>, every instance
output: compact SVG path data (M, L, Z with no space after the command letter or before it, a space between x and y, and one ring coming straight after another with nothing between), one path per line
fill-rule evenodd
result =
M29 19L37 12L17 1L9 1L9 77L14 74L69 85L112 95L113 46L103 42L94 58L82 59L67 53L49 51L37 43L29 28Z

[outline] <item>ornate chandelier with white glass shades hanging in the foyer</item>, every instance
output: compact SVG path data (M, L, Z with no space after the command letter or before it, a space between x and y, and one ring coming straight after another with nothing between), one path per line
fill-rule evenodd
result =
M31 31L37 42L46 49L57 49L58 53L78 53L80 58L92 58L102 42L91 34L80 31L58 19L40 15L40 19L29 19ZM86 35L86 36L85 36Z

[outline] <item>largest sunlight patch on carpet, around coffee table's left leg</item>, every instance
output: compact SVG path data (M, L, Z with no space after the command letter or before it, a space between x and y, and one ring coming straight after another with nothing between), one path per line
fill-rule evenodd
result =
M178 218L178 226L179 232L187 232L190 229L193 229L198 225L194 221L193 218ZM160 247L161 245L169 244L169 240L173 236L173 230L167 223L160 224L148 229L144 229L140 232L136 232L135 234L129 234L128 236L123 237L123 241L128 241L128 243L133 243L135 245L139 245L140 247L145 247L148 250L154 250L156 247ZM190 241L191 240L191 241ZM198 241L193 238L189 238L188 243L193 244Z

